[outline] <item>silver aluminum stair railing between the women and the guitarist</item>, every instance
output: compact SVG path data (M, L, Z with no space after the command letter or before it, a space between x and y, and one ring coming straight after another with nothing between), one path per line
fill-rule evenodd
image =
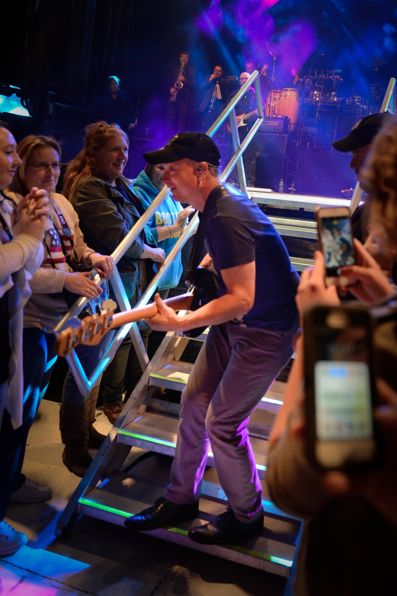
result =
M260 94L260 85L258 77L259 72L258 70L255 70L249 77L247 82L244 83L241 89L239 89L232 101L228 103L228 105L225 107L225 109L222 111L222 113L219 115L219 117L215 120L213 125L207 131L207 135L215 135L216 131L218 131L218 129L222 126L227 117L229 117L229 122L232 131L234 156L232 156L231 160L222 172L221 180L222 182L224 182L225 179L227 179L233 167L235 166L235 164L237 164L240 188L241 191L243 191L243 193L247 192L247 185L242 154L244 150L247 148L247 145L249 145L250 141L252 141L253 136L255 135L256 131L258 131L260 123L262 123L263 120L262 95ZM237 119L235 116L235 106L241 100L241 97L243 97L247 89L250 88L252 83L255 84L255 97L258 110L258 119L250 129L246 138L244 138L243 142L241 142L240 144L238 137ZM126 296L125 289L123 287L122 280L117 269L117 263L122 258L122 256L129 250L129 248L134 243L135 239L138 237L139 233L142 231L147 222L152 218L157 208L160 207L160 205L163 203L165 198L168 197L168 195L169 189L166 187L163 188L163 190L160 191L160 193L154 199L153 203L151 203L150 207L148 207L148 209L145 211L144 215L142 215L142 217L138 219L137 223L131 228L126 237L123 238L122 242L120 242L119 246L117 246L116 250L114 250L114 252L111 254L114 261L114 270L110 277L110 284L113 288L114 295L116 296L116 300L119 305L120 311L128 311L129 309L131 309L131 305L129 303L128 297ZM173 262L173 259L175 259L179 251L184 246L185 242L194 233L197 225L198 213L196 213L196 215L194 215L194 217L191 219L189 225L187 226L187 228L185 228L184 232L179 237L175 246L173 246L168 257L165 259L165 262L162 264L153 280L151 280L151 283L147 286L135 307L145 306L148 303L150 297L153 295L154 290L159 285L159 282L162 280L162 278L168 271L171 263ZM94 281L97 284L100 283L101 278L98 274L95 275ZM68 319L70 319L72 316L78 315L82 311L83 307L86 305L87 302L88 299L84 297L81 297L78 300L76 300L75 304L72 306L69 312L67 312L66 315L63 316L61 321L58 322L57 326L54 328L55 335L57 335L65 327L65 325L67 325ZM66 356L67 364L69 365L70 371L72 372L73 377L75 377L77 387L79 387L79 390L83 396L88 396L89 392L95 384L95 381L97 381L100 374L103 373L104 369L107 367L107 365L113 358L117 348L120 346L127 333L130 334L132 344L135 348L135 351L137 352L139 363L141 364L143 371L147 367L149 359L144 344L142 343L142 339L139 334L138 326L136 323L129 323L127 325L123 325L123 327L121 327L119 331L116 332L89 378L86 376L85 371L83 370L83 367L79 361L79 358L76 355L75 350L73 350L73 352L70 353L69 356Z

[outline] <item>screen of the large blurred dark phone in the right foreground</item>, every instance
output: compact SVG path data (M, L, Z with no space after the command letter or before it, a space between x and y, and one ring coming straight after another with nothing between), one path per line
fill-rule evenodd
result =
M368 333L356 325L315 330L315 455L326 468L376 454Z

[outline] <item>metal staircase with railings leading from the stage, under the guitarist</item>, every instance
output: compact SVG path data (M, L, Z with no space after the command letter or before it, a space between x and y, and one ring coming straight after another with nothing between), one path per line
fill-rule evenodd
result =
M215 134L219 126L229 117L235 154L222 173L222 180L227 178L232 167L237 163L241 190L247 191L251 200L256 203L283 210L282 216L272 215L270 217L281 236L316 240L317 227L314 221L306 217L298 219L296 215L300 214L301 210L311 212L312 214L317 204L329 204L333 206L343 204L349 206L349 201L340 198L311 197L306 195L280 195L278 193L270 193L264 189L246 188L241 154L263 120L258 75L258 71L255 71L250 76L234 100L225 108L221 116L219 116L218 120L216 120L207 132L210 136ZM386 108L384 108L384 111L386 111L390 103L394 107L395 100L393 93L395 92L395 79L392 79L392 81L394 81L393 85L390 84L387 91L389 100L387 105L385 104ZM234 107L246 89L254 82L258 104L258 120L240 145L238 142ZM168 192L165 189L159 193L147 212L145 212L127 237L117 247L112 255L116 265L117 261L128 250L129 246L131 246L167 194ZM358 194L355 193L353 200L355 200L356 204L359 202L359 197L357 197ZM291 210L291 218L285 216L286 209ZM160 268L160 271L145 290L137 306L147 304L159 280L168 270L170 263L179 250L181 250L185 241L194 232L196 225L197 215L190 222L181 238L179 238L178 243L176 243L165 263ZM293 257L291 258L291 262L298 271L302 271L302 269L312 263L312 260ZM99 278L95 278L95 281L99 281ZM130 305L125 296L117 267L114 269L111 277L111 284L114 288L119 308L121 310L128 310ZM87 300L83 298L77 300L75 306L67 313L60 324L57 325L55 333L61 330L70 316L79 313L86 302ZM137 387L135 387L134 392L125 403L123 411L110 430L103 445L98 450L87 473L73 493L69 504L67 504L67 507L61 514L55 530L57 536L66 536L72 529L73 524L76 523L77 517L80 514L123 525L126 517L138 513L138 511L153 504L159 496L162 496L169 482L169 461L163 456L172 456L175 452L180 406L178 403L166 401L162 393L164 389L178 391L184 389L193 366L188 362L181 361L185 347L189 341L204 341L206 332L196 340L189 340L182 335L169 332L164 337L154 357L149 360L142 346L136 324L125 325L112 340L103 358L98 362L97 368L92 373L91 378L88 379L86 377L75 353L67 357L70 369L83 395L88 395L95 380L97 380L101 371L106 367L111 356L116 352L117 347L127 333L131 335L139 361L141 362L142 377ZM204 473L198 519L176 527L163 527L159 530L148 532L149 534L166 541L178 542L178 544L182 544L187 548L194 548L215 556L243 563L247 566L257 567L271 573L277 573L278 575L289 575L294 560L295 546L300 530L300 520L278 510L269 500L266 488L267 437L275 415L283 403L283 394L284 383L275 381L251 415L249 423L250 440L255 453L256 467L258 468L260 482L263 487L263 496L265 498L263 501L265 522L263 524L262 534L256 538L238 540L234 544L222 546L201 545L188 538L187 532L191 526L207 523L214 516L225 510L226 496L222 487L219 485L218 477L216 476L215 461L210 451L207 456L207 468ZM142 453L142 451L139 451L142 449L146 450L146 452L159 454L160 459L155 460L154 463L152 462L149 467L147 465L145 466L144 462L138 462L134 466L133 472L129 471L128 468L123 471L123 466L131 449L135 449L137 454ZM126 532L128 531L126 529Z

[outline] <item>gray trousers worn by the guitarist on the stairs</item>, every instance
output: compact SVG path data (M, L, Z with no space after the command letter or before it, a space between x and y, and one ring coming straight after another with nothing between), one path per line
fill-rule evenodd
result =
M229 507L241 522L262 514L262 488L247 424L288 364L297 325L289 331L213 325L182 392L178 440L166 498L197 501L207 452L215 458Z

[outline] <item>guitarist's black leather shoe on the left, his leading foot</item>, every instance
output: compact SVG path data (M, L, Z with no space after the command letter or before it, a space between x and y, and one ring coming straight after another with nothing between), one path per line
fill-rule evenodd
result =
M197 516L198 501L181 505L168 501L165 496L160 496L151 507L136 516L128 517L125 525L131 530L156 530L158 527L194 520Z

